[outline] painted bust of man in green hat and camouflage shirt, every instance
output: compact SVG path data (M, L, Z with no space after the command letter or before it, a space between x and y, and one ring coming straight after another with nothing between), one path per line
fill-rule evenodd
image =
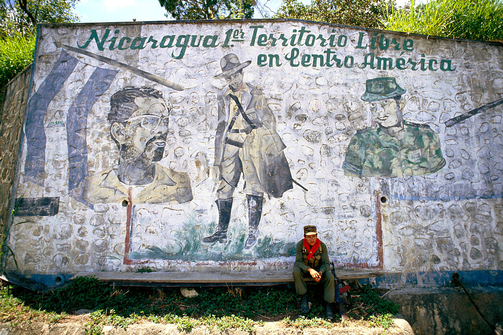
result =
M394 77L367 80L361 99L369 103L377 126L358 130L351 139L343 163L345 175L422 176L444 167L438 135L427 124L403 120L405 92Z

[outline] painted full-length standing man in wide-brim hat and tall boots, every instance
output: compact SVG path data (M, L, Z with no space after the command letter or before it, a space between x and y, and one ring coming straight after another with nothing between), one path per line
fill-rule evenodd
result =
M241 63L229 53L220 60L221 72L214 76L225 79L228 86L218 94L215 135L218 225L212 235L203 238L204 243L227 242L234 189L243 174L248 207L244 249L257 243L264 194L279 198L292 188L283 153L286 146L276 133L276 118L262 90L243 81L243 68L250 63Z

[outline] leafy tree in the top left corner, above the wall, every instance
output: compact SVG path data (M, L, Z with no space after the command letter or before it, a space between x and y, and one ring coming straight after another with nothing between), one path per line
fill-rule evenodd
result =
M78 0L0 0L0 38L34 35L39 23L74 22Z

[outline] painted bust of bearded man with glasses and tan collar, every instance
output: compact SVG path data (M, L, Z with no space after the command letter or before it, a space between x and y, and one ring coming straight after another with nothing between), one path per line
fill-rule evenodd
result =
M85 200L117 203L129 193L134 203L192 200L189 176L157 164L166 145L170 111L162 94L148 87L127 87L112 95L107 120L119 163L89 178Z

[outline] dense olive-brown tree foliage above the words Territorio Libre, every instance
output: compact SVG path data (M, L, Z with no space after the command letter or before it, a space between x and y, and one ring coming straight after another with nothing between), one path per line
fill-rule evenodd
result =
M284 0L274 18L302 19L350 26L382 28L385 0Z

